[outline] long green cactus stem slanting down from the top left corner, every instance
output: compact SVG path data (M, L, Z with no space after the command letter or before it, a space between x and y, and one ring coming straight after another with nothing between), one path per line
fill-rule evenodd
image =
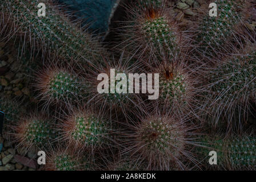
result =
M23 42L42 51L43 55L51 55L56 59L74 60L77 63L93 64L102 51L98 40L93 38L77 24L72 23L69 15L63 14L49 0L1 0L1 16L7 16L7 38L21 35ZM46 15L38 16L39 3L45 3ZM3 18L1 18L2 20ZM1 21L0 20L0 21ZM2 24L3 24L2 23ZM37 50L37 51L38 51ZM43 56L44 57L44 56Z

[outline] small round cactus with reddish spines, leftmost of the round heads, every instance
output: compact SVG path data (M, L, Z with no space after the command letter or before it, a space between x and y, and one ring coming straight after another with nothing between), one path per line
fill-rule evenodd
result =
M17 139L18 146L21 146L25 151L30 147L43 147L49 146L55 137L53 129L53 120L42 115L31 114L30 117L23 117L17 123L12 134Z

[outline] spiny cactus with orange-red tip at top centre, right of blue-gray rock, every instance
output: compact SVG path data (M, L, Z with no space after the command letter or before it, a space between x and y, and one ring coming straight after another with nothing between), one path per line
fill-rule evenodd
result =
M170 57L170 62L178 59L181 49L188 45L187 39L164 6L151 5L140 10L131 7L127 12L129 18L119 31L124 40L121 49L128 49L137 57L146 55L146 62L151 64L161 57Z

